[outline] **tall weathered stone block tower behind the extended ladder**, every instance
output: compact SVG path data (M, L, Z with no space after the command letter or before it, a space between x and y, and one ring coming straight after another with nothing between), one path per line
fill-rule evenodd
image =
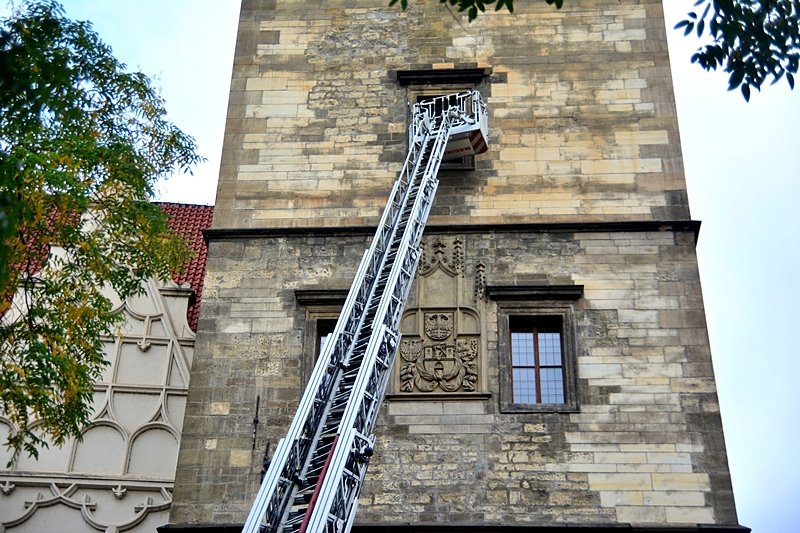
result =
M491 145L440 172L356 530L747 531L661 1L387 3L243 1L170 529L244 521L408 104L475 87Z

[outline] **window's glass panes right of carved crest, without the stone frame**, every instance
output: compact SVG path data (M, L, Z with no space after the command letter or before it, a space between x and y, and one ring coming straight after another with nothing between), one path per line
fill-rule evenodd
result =
M564 348L560 317L509 318L512 400L564 403Z

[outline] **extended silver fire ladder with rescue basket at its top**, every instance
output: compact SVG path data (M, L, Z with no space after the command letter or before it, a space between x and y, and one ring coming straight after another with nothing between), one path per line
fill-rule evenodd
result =
M245 533L342 533L352 527L439 165L448 151L453 157L485 151L487 132L477 91L414 105L400 177L278 443Z

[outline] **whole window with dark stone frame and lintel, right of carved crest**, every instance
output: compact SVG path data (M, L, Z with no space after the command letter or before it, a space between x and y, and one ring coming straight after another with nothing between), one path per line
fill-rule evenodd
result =
M575 311L581 285L486 287L497 302L500 410L578 410Z

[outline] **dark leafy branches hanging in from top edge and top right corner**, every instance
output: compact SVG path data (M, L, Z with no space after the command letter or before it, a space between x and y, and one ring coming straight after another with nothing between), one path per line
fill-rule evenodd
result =
M544 0L561 9L564 0ZM574 0L573 0L574 1ZM398 0L391 0L394 5ZM406 9L408 0L399 0ZM439 0L440 4L466 12L470 22L487 6L514 11L514 0ZM686 19L675 28L684 35L696 32L710 41L692 56L706 70L722 68L729 74L728 90L741 88L745 100L752 89L772 77L772 84L786 77L794 89L794 75L800 63L800 0L696 0ZM705 7L703 7L705 6Z

